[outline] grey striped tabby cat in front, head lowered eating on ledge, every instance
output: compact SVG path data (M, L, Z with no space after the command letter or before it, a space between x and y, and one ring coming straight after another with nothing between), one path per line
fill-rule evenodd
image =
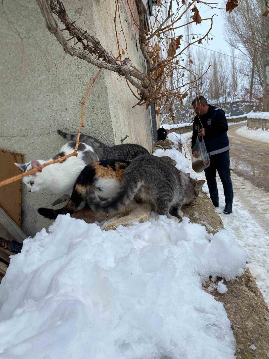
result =
M189 173L179 171L165 159L142 155L125 170L115 197L100 201L89 192L88 202L93 210L109 213L124 209L138 195L142 201L150 203L156 213L169 219L181 218L181 206L195 200L205 182L190 178Z

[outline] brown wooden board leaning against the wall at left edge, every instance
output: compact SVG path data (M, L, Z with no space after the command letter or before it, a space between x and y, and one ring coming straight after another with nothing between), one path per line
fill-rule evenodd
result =
M0 181L20 174L14 163L23 163L23 155L0 150ZM22 204L22 181L16 181L0 187L0 206L9 217L20 227L20 209Z

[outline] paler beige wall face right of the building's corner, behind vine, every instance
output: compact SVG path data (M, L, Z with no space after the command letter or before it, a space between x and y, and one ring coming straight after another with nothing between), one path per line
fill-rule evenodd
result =
M132 6L133 15L136 16L136 6L132 1L130 1L129 4ZM113 21L115 1L93 1L93 9L95 28L98 29L96 36L100 39L103 46L109 50L109 52L112 51L113 55L117 57L119 51ZM142 72L146 72L145 59L141 53L138 41L138 29L136 25L133 24L127 1L119 0L118 9L121 17L120 23L117 14L116 25L119 47L121 52L122 50L125 52L121 59L123 60L125 57L129 57L129 59L132 60L133 66ZM101 24L101 26L99 24ZM123 31L121 31L121 25ZM151 149L150 111L147 110L145 106L132 108L139 100L131 93L124 78L110 71L105 71L105 83L107 85L109 109L116 143L121 143L121 139L128 135L129 138L127 138L124 143L139 143L147 149ZM130 86L137 95L136 88L131 84Z

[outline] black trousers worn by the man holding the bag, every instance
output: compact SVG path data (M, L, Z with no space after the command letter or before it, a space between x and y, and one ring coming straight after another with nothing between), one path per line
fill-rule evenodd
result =
M211 156L210 165L204 170L204 173L206 174L210 198L214 206L218 207L218 188L216 181L217 171L223 185L225 204L232 204L233 190L230 172L229 151Z

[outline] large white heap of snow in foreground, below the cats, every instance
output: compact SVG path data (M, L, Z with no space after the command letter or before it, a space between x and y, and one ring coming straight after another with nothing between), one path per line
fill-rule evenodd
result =
M105 232L60 215L11 258L1 359L232 359L223 304L201 284L235 279L245 260L232 233L209 235L188 218L153 214Z

